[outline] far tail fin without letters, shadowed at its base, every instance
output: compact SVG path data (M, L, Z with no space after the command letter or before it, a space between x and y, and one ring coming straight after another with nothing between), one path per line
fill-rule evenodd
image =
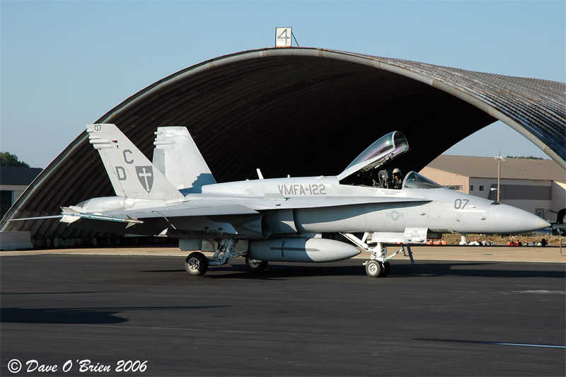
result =
M154 141L154 164L183 192L201 192L216 183L186 127L158 127Z

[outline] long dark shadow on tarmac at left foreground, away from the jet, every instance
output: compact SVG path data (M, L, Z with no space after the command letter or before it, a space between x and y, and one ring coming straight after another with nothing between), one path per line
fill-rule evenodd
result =
M225 308L215 306L151 306L116 308L0 308L0 323L52 323L80 325L108 325L127 322L117 313L127 311L194 310Z

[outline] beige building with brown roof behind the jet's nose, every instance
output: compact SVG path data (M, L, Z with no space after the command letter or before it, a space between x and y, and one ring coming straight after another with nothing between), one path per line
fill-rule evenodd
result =
M497 200L497 160L493 157L438 156L420 170L434 182L466 194ZM505 158L500 201L556 222L566 208L566 171L552 160Z

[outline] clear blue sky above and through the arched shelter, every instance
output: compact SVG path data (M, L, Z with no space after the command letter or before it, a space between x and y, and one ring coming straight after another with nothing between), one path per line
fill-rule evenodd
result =
M275 45L566 81L566 1L0 1L0 149L45 168L175 71ZM457 125L455 125L457 126ZM371 141L368 141L371 142ZM548 158L497 122L446 151Z

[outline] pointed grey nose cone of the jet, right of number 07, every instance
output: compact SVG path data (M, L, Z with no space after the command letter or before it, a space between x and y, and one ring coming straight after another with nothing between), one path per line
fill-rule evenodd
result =
M535 214L507 204L492 204L488 219L492 233L522 233L538 231L550 226L548 222Z

